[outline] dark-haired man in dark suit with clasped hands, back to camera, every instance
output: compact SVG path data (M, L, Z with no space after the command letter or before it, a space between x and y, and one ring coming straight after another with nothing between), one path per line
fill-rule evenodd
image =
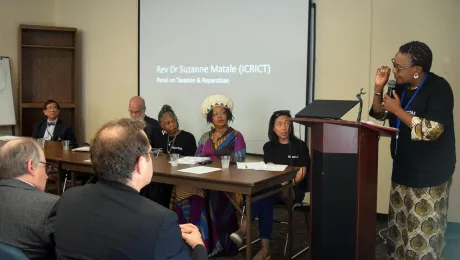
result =
M57 209L58 259L207 259L201 234L139 195L153 174L144 121L105 124L91 143L99 182L69 189Z

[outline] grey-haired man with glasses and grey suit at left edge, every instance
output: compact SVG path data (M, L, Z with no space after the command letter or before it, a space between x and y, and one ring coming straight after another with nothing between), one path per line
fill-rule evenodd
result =
M29 259L53 259L58 196L45 193L43 150L30 138L0 148L0 243L19 248Z

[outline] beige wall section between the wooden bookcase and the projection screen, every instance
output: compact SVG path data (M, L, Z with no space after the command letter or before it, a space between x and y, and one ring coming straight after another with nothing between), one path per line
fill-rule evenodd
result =
M128 117L137 95L137 0L56 0L55 21L79 30L80 140Z

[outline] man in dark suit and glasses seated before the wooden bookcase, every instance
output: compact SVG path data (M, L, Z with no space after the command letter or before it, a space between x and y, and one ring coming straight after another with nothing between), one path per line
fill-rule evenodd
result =
M43 105L43 113L46 119L35 124L33 138L43 138L47 141L69 140L71 146L75 146L77 141L72 127L59 118L61 107L50 99Z

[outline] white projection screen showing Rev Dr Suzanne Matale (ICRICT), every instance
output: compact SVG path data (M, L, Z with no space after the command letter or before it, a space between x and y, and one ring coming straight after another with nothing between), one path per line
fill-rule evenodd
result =
M244 136L247 153L263 154L273 112L306 104L309 12L309 0L140 0L139 95L147 115L170 105L180 129L198 141L211 126L203 100L226 95L228 126Z

